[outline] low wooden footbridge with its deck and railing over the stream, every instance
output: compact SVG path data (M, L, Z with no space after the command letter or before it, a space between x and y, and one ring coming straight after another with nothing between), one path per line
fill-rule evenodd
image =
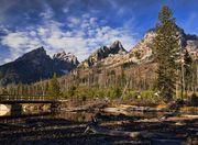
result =
M57 99L48 96L16 96L16 94L0 94L0 104L13 103L53 103Z

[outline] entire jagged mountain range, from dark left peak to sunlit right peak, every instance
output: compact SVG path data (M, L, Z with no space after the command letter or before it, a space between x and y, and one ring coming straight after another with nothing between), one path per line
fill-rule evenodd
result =
M110 46L98 48L81 63L77 60L76 56L65 52L57 53L51 58L46 55L44 48L41 47L12 63L0 66L0 85L29 83L40 79L51 78L54 72L62 76L72 70L70 75L62 79L66 86L70 81L108 85L106 82L106 80L110 81L107 79L108 77L111 76L111 79L118 77L118 80L114 81L119 81L119 75L122 71L125 71L129 79L134 77L133 81L141 83L139 81L142 78L138 79L140 77L140 69L142 77L146 79L155 78L154 69L156 67L152 52L155 36L156 32L154 29L147 31L144 37L130 52L123 48L121 42L116 41ZM189 55L198 60L198 36L185 34L184 30L179 27L178 36L180 37L183 48L187 49ZM130 76L132 71L133 76ZM114 74L113 77L112 74ZM73 80L73 77L77 79Z

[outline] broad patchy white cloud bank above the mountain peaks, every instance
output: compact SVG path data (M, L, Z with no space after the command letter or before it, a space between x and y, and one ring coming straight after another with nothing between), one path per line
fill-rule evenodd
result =
M66 30L63 26L72 26L72 29ZM66 51L74 53L79 60L84 60L96 48L109 45L117 40L121 41L127 49L135 43L128 27L112 29L108 25L100 25L100 21L89 14L81 18L70 16L63 23L45 15L41 25L9 33L2 37L1 44L8 46L11 52L6 62L13 60L38 46L44 46L51 56L54 53Z

